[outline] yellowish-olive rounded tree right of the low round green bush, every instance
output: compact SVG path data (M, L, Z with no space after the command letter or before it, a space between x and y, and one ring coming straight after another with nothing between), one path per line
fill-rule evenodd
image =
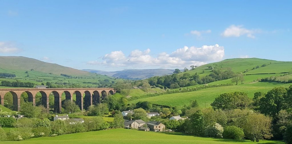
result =
M246 137L251 141L259 142L260 139L269 139L271 136L272 119L263 115L252 113L247 116L246 124L243 127Z

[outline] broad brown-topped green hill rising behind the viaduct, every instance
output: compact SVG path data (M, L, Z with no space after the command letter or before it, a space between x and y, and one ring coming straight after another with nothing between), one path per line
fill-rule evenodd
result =
M16 75L14 78L0 78L0 82L3 80L11 82L19 80L20 82L31 82L34 85L51 82L56 85L63 83L62 85L64 87L68 87L66 85L69 85L69 83L71 85L75 84L75 87L76 85L79 85L77 87L98 87L109 86L112 84L112 81L115 81L113 77L89 73L26 57L0 56L0 62L0 73ZM63 76L61 74L65 75ZM0 86L0 88L8 87Z

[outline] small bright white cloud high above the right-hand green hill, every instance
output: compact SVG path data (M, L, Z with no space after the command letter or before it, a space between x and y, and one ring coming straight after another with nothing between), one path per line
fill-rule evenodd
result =
M223 33L221 33L224 37L240 37L242 35L246 35L248 38L254 39L255 33L260 33L261 30L259 29L246 29L243 28L243 25L231 25L230 27L226 28Z

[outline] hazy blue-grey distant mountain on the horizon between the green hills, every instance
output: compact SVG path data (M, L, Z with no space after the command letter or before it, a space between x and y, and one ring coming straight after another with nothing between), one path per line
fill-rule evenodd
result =
M91 73L100 75L107 75L117 78L130 79L130 80L144 80L153 76L171 75L172 69L124 69L121 71L102 71L94 69L82 69Z

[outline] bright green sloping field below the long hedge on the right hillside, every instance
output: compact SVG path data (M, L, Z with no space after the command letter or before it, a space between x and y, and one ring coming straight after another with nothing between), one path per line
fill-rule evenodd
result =
M241 91L246 92L250 98L253 97L255 92L263 91L267 92L276 86L288 87L286 84L272 83L272 82L256 82L252 84L232 85L215 88L207 88L197 91L185 92L185 93L172 93L165 95L158 95L153 97L141 98L137 100L129 101L129 103L137 103L139 101L150 101L154 104L178 106L181 107L185 104L189 104L191 100L197 100L199 106L209 107L216 97L220 94Z

